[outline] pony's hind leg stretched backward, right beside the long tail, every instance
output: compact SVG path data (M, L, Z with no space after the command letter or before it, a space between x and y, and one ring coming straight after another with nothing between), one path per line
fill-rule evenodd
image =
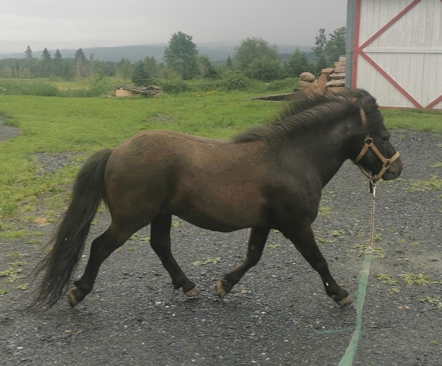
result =
M121 247L137 230L138 229L120 229L117 225L111 224L102 235L93 240L84 274L79 280L74 281L75 287L71 289L68 294L71 307L75 307L92 291L102 262L108 258L115 249Z

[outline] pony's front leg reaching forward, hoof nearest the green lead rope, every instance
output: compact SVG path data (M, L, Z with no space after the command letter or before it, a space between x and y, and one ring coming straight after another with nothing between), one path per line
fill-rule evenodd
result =
M311 267L319 273L327 295L341 306L351 304L353 300L348 292L338 285L330 273L327 261L320 252L318 244L316 244L311 227L292 227L282 231L282 233L294 243L296 249L309 262Z

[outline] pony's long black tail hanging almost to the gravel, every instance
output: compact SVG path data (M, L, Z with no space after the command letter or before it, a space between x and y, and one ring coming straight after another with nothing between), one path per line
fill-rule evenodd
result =
M106 202L104 169L111 152L98 151L81 167L68 210L50 240L53 247L34 269L34 276L41 272L44 276L30 307L54 305L72 280L99 203Z

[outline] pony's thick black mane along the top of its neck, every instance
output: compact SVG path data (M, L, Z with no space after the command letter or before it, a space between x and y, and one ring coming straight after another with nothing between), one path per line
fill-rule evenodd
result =
M340 93L303 93L300 99L287 103L273 121L239 133L232 142L299 137L307 132L320 131L356 113L359 115L360 108L369 113L377 107L376 99L361 89L345 89Z

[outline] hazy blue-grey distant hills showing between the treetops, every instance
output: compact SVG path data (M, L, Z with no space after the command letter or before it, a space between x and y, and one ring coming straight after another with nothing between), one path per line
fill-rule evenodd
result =
M197 44L198 52L200 55L209 57L210 61L215 64L222 63L226 61L227 57L233 57L235 48L238 45L233 44ZM92 48L81 48L86 57L93 55L93 58L100 61L113 61L118 62L121 59L128 59L131 62L140 61L146 57L155 57L158 62L162 61L164 48L167 44L146 44L137 46L117 46L117 47L92 47ZM311 48L306 46L290 46L290 45L278 45L278 51L281 55L286 54L291 55L296 48L303 52L311 52ZM56 50L49 50L50 55L53 56ZM61 49L61 56L64 58L70 58L75 56L75 49ZM32 50L32 56L35 58L40 58L43 50ZM0 59L22 59L25 53L15 52L15 53L0 53ZM218 62L217 62L218 61Z

